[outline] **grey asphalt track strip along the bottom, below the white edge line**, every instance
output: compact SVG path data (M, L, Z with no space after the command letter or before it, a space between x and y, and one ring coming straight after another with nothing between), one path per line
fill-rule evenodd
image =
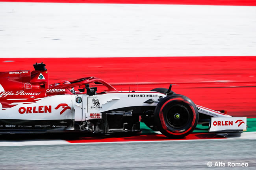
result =
M230 141L171 141L48 146L2 146L2 170L206 169L211 161L248 163L256 168L255 139ZM211 167L213 168L213 167ZM219 167L226 169L229 167ZM209 167L210 169L210 167Z

